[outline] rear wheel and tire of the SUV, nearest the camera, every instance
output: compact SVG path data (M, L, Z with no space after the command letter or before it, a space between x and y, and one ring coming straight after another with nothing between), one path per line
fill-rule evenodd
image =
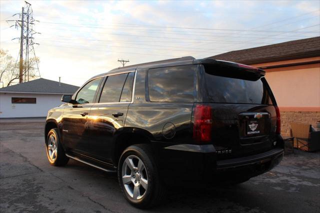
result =
M149 208L163 199L165 188L147 144L127 147L120 156L117 171L124 197L133 206Z

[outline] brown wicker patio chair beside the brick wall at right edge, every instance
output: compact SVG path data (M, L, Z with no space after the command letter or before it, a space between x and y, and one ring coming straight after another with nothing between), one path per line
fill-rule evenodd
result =
M293 146L303 151L320 150L320 131L312 131L310 124L291 123Z

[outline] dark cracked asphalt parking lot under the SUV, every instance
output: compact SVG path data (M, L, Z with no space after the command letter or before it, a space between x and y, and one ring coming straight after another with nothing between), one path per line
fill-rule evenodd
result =
M0 212L320 212L320 152L295 150L274 169L236 186L170 189L140 210L115 174L69 160L51 166L44 119L0 120Z

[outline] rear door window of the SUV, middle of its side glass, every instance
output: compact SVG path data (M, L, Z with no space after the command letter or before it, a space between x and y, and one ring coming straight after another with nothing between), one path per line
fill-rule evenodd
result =
M108 76L104 83L99 102L119 102L122 87L127 75L128 73Z

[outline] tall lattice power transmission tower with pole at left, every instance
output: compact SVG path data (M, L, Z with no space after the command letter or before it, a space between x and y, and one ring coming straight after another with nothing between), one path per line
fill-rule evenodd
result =
M31 8L31 4L24 1L25 6L22 7L21 13L16 13L12 16L19 15L19 18L16 20L7 20L14 21L14 24L11 25L15 26L16 29L21 29L20 37L16 37L13 39L19 39L20 41L20 51L19 51L19 83L28 81L30 77L40 77L40 71L38 66L38 60L35 56L35 51L33 44L38 44L33 41L33 35L38 33L33 30L34 22L37 21L33 18L33 11ZM13 40L12 39L12 40ZM33 56L34 60L31 62L31 58ZM24 65L23 65L24 63ZM16 66L14 68L17 68Z

